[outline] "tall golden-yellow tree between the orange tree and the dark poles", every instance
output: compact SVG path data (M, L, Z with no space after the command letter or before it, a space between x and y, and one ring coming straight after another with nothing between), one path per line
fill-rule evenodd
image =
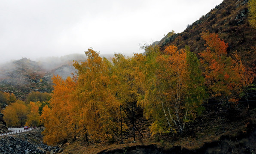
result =
M81 107L79 124L86 126L94 140L111 141L119 128L119 102L110 89L110 62L93 49L85 54L87 61L74 63L78 71L76 95Z

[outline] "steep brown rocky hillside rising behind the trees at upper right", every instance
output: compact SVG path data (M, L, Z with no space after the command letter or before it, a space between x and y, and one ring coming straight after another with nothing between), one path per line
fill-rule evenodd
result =
M205 50L202 32L218 33L219 37L229 43L228 54L236 50L247 65L256 63L256 29L248 22L248 0L224 0L206 15L187 26L182 33L168 33L160 41L162 50L168 45L184 48L188 45L192 52Z

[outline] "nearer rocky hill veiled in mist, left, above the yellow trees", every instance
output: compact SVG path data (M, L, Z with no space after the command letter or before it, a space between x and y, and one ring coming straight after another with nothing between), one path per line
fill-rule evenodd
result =
M21 100L31 91L51 92L51 75L37 62L23 58L0 68L0 90L13 93Z

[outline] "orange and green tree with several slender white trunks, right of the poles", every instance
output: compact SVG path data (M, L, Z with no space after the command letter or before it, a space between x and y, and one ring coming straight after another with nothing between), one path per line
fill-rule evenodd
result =
M146 117L152 116L152 133L183 133L187 122L201 113L203 77L198 59L189 50L166 47L151 64L151 84L141 102Z

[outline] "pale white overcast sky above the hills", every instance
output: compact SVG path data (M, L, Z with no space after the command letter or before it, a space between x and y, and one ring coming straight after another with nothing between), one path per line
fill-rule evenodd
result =
M222 0L0 0L0 63L27 57L140 53Z

